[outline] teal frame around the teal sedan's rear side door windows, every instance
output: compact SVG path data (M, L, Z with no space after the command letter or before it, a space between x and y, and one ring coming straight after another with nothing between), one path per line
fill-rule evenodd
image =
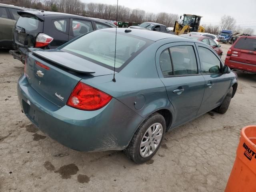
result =
M197 74L181 74L181 75L175 75L174 73L174 67L173 67L173 62L172 62L172 56L170 54L170 48L171 47L175 47L175 46L192 46L193 47L193 50L194 50L194 54L195 54L195 57L196 57L196 65L197 65L197 71L198 73ZM156 52L156 56L158 55L159 53L159 56L158 56L158 60L156 60L155 58L155 61L159 61L160 60L160 55L161 53L166 50L168 48L169 50L169 54L170 54L170 57L171 57L171 62L172 62L172 71L173 71L173 75L168 75L168 76L164 76L163 72L162 72L162 69L160 67L160 62L158 62L158 65L157 65L157 71L158 71L158 74L160 73L162 75L162 78L172 78L172 77L182 77L182 76L198 76L198 75L202 75L201 73L201 65L200 65L200 62L199 62L199 56L198 56L198 51L197 51L197 48L196 48L196 45L194 42L171 42L171 43L168 43L168 44L164 44L162 45L160 48L158 48L157 52ZM157 62L156 62L157 63ZM159 66L159 68L158 68Z

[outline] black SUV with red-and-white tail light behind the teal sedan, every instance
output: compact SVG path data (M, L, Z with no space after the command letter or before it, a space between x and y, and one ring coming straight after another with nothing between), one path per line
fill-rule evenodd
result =
M96 19L48 11L19 11L10 54L25 63L28 48L54 49L93 30L112 28Z

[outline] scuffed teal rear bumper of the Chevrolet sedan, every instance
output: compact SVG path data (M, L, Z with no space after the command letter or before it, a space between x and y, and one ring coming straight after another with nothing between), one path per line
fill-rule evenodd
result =
M38 128L78 151L123 150L144 120L116 99L96 111L62 108L38 94L21 76L17 84L22 111ZM30 103L30 104L28 104Z

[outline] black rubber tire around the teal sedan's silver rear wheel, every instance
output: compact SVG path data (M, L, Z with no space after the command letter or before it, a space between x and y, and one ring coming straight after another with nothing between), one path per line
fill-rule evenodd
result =
M163 128L162 138L156 150L152 154L150 154L148 157L144 158L140 155L140 142L142 141L142 137L144 136L148 128L154 123L160 123L162 125L162 128ZM147 162L152 158L152 156L154 156L154 154L158 151L159 147L161 146L162 140L164 138L165 130L166 130L166 123L165 123L164 117L157 112L150 115L148 118L146 118L146 120L144 120L144 122L142 122L142 124L140 124L140 126L134 133L132 140L130 141L130 144L124 150L124 154L126 154L126 156L130 158L130 160L134 161L137 164Z

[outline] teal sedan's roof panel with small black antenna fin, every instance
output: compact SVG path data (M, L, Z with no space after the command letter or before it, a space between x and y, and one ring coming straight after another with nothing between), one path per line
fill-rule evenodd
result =
M158 40L162 40L162 39L173 39L173 42L176 42L177 40L181 40L184 42L184 40L186 40L186 42L198 42L196 40L192 40L192 39L188 39L188 38L184 38L178 35L173 35L173 34L169 34L169 33L164 33L164 32L157 32L157 31L151 31L151 30L141 30L141 29L134 29L134 28L105 28L105 29L100 29L100 30L106 30L106 31L116 31L120 32L120 33L124 33L124 34L130 34L130 35L134 35L140 38L145 38L148 40L152 40L152 41L158 41ZM125 32L125 30L129 30L130 32ZM200 36L201 37L201 36Z

